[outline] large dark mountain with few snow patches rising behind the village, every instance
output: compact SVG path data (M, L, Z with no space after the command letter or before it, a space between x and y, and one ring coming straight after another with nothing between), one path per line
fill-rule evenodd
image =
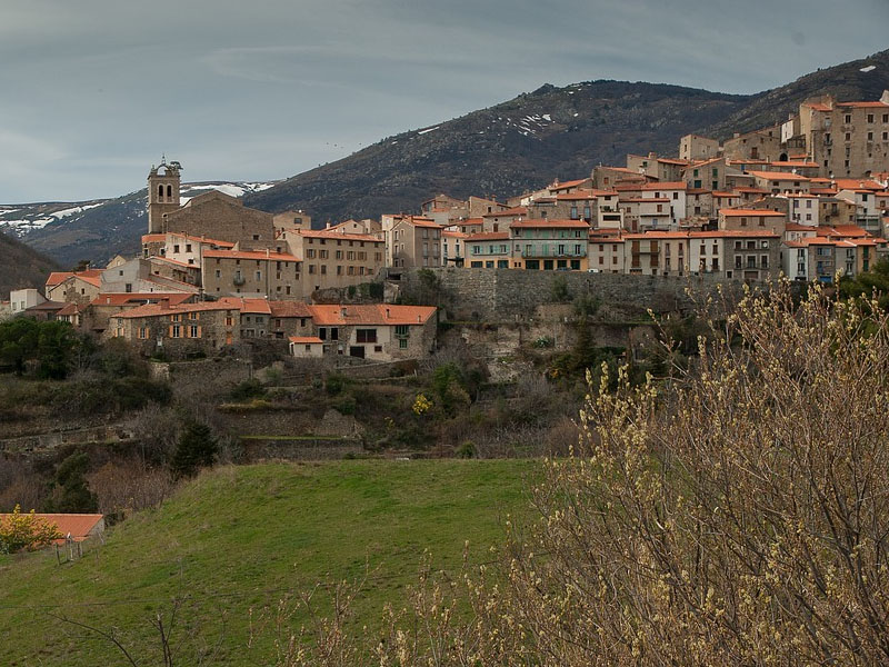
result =
M318 221L413 211L438 192L505 197L553 178L581 178L628 152L676 155L688 132L731 137L780 122L809 97L876 100L889 88L889 50L819 70L772 90L730 96L677 86L590 81L531 93L419 131L246 197Z

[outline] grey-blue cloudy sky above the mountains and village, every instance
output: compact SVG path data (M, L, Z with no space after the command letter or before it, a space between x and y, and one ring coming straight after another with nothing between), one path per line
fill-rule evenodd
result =
M553 83L752 93L889 48L889 0L0 0L0 203L287 178Z

